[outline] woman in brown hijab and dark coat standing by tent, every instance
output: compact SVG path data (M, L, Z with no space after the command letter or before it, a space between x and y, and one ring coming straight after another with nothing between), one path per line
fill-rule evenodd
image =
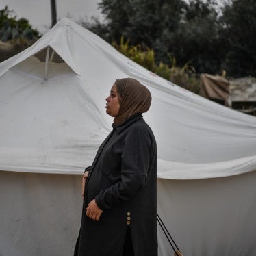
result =
M113 129L86 168L75 255L157 255L157 147L142 118L151 94L136 79L118 79L106 99Z

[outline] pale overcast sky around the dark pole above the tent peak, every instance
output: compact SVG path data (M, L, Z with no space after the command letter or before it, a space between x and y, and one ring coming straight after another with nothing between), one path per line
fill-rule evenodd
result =
M57 19L71 18L77 22L81 19L90 20L95 16L102 20L97 9L100 0L56 0ZM14 10L17 18L27 18L34 29L44 34L51 27L51 0L0 0L0 10L8 5Z

